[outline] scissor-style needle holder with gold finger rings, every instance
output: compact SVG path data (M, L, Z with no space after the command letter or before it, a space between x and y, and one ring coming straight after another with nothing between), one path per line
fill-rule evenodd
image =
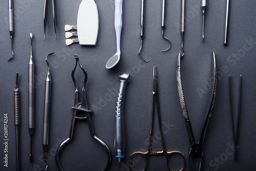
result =
M158 124L159 124L159 128L160 128L160 135L161 135L161 141L162 141L162 146L163 146L161 152L153 152L151 150L152 135L153 135L153 130L154 130L153 127L154 127L155 104L157 105ZM163 140L162 126L161 126L161 116L160 116L160 108L159 108L159 100L158 100L158 79L157 79L157 68L156 68L156 66L154 66L154 69L153 69L153 105L152 106L153 106L153 108L152 108L151 130L150 130L150 141L148 143L147 152L135 152L135 153L133 153L131 155L130 159L129 159L130 167L134 171L134 169L132 168L132 158L135 155L140 155L140 156L143 156L144 159L145 159L145 167L143 169L143 171L144 171L147 168L148 157L150 157L151 155L156 155L156 156L165 156L169 169L173 170L172 168L170 168L169 158L172 155L178 154L178 155L181 155L181 157L183 158L183 165L182 165L182 168L180 169L180 171L181 171L181 170L183 170L184 165L185 165L184 155L181 152L178 152L178 151L167 152L166 148L165 148L164 140Z

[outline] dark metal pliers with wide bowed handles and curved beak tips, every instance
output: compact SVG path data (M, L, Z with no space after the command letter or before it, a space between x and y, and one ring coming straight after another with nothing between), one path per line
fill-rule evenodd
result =
M82 65L79 61L79 58L77 57L77 55L75 55L75 59L76 59L76 64L75 67L72 71L72 79L73 82L75 84L75 103L74 103L74 107L71 107L74 111L73 111L73 117L72 117L72 122L71 122L71 127L70 127L70 134L69 134L69 138L67 140L65 140L64 142L62 142L56 151L56 155L55 155L55 162L59 168L59 170L64 170L59 162L59 154L61 152L61 150L67 146L67 144L72 141L73 135L74 135L74 126L75 126L75 121L76 120L87 120L88 121L88 125L89 125L89 130L91 133L91 136L93 139L95 139L96 141L98 141L104 148L106 153L108 153L108 164L105 166L105 168L103 170L107 170L110 166L110 162L111 162L111 156L110 156L110 149L108 146L106 146L106 144L101 141L98 137L95 136L94 134L94 128L93 128L93 123L90 117L90 113L92 113L92 111L89 110L88 108L88 102L87 102L87 98L86 98L86 83L87 83L87 72L82 68ZM84 81L83 81L83 86L82 86L82 102L78 102L78 85L75 79L75 70L77 67L77 63L79 65L79 67L81 68L83 74L84 74ZM79 112L83 112L84 114L86 114L85 117L78 117L77 113Z

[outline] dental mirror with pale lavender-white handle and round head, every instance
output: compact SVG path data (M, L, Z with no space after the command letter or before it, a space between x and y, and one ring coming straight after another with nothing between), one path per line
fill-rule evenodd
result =
M123 0L115 0L115 30L116 30L116 54L106 62L106 68L111 69L116 66L120 59L120 39L123 26Z

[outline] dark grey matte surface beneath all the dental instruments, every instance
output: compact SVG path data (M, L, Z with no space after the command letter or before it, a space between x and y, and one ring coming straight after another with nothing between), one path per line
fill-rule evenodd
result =
M54 38L52 8L44 41L44 1L14 1L14 42L15 58L11 56L8 24L8 1L0 5L0 158L4 157L4 113L8 113L8 168L0 163L0 170L15 170L15 132L13 119L13 89L15 73L19 72L21 94L21 155L22 170L45 168L42 160L42 117L44 89L49 58L52 69L52 112L49 153L49 170L57 170L55 164L56 147L69 136L74 102L74 84L71 71L77 54L88 72L87 97L89 108L94 111L92 121L96 136L111 150L112 162L109 170L129 170L129 156L136 151L147 149L152 112L152 74L157 66L159 79L159 99L164 140L168 151L180 151L185 155L184 170L188 165L189 141L186 126L179 104L175 69L177 52L181 51L181 1L166 2L165 36L172 41L168 47L161 33L162 1L145 1L145 38L142 55L151 61L144 63L138 56L140 48L140 8L141 1L123 2L123 29L121 35L121 59L118 65L105 69L105 63L116 52L114 29L114 0L96 1L99 11L99 35L94 47L73 44L65 45L66 24L75 25L81 1L57 1L57 41ZM49 2L50 4L50 2ZM185 1L184 50L181 60L181 77L187 109L195 137L200 134L209 98L210 55L216 52L219 70L217 97L214 113L210 118L205 137L203 170L255 170L255 6L256 1L231 1L228 46L223 45L226 1L209 1L205 22L205 41L202 43L202 15L200 1ZM36 65L36 113L33 137L34 162L29 163L28 133L28 62L30 56L30 37L33 33L33 56ZM251 44L248 44L252 42ZM243 50L243 49L246 49ZM118 89L118 75L131 74L125 99L126 156L120 164L114 157L115 105ZM239 134L238 160L233 161L231 152L232 130L229 108L228 75L233 75L234 114L237 115L239 75L243 76L241 120ZM82 84L83 74L77 70L76 77ZM236 118L236 117L235 117ZM157 118L155 118L157 123ZM166 126L167 125L167 126ZM159 128L154 130L153 150L161 150ZM197 139L197 138L196 138ZM179 157L172 163L178 168ZM217 161L219 160L219 161ZM74 140L61 155L61 163L67 170L102 170L106 163L103 148L90 137L88 124L76 122ZM152 156L148 170L168 170L164 157Z

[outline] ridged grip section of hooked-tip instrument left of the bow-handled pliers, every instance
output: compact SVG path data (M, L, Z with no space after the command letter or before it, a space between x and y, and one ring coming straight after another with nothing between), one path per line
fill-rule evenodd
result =
M44 107L44 123L42 129L42 144L48 145L49 141L49 122L51 110L51 81L46 80L45 85L45 107Z

